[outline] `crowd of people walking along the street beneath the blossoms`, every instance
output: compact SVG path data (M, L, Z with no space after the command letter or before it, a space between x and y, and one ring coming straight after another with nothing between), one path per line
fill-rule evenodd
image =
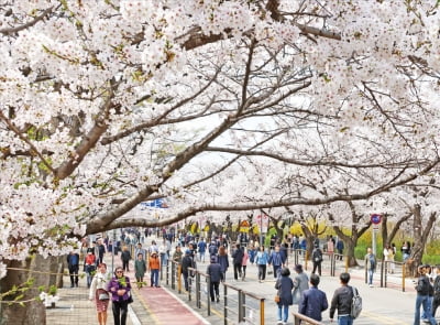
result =
M82 247L84 271L87 274L87 286L90 289L89 299L95 302L98 324L107 324L107 311L111 301L114 324L124 325L127 322L128 305L132 301L130 278L124 272L130 271L132 266L134 269L135 284L138 289L150 284L151 288L160 288L160 271L164 268L168 260L176 262L180 267L184 288L189 291L190 278L194 277L197 269L197 262L205 263L209 261L206 273L210 277L209 297L211 302L220 302L220 283L227 281L228 270L232 269L230 281L246 281L248 263L255 264L257 268L257 281L263 283L266 275L270 274L275 280L277 301L277 318L278 324L287 324L289 315L289 306L297 305L298 312L312 319L321 321L322 312L330 311L330 319L338 317L338 324L351 325L354 317L351 315L351 302L354 296L354 290L349 285L350 274L340 274L341 286L336 290L333 297L328 303L327 295L318 289L321 277L321 263L323 261L323 249L320 241L314 241L311 252L311 262L314 264L311 273L308 275L304 272L301 264L296 264L292 271L295 272L290 277L288 268L288 248L299 245L300 240L296 236L287 243L279 242L275 238L271 238L270 248L261 246L258 241L248 242L249 238L238 240L231 245L227 237L218 236L212 240L205 238L196 238L191 236L175 236L169 232L156 232L156 238L151 240L151 245L146 248L142 246L144 237L136 232L125 231L120 240L112 246L107 239L98 239ZM158 235L158 237L157 237ZM132 238L139 240L132 241ZM274 240L273 240L274 239ZM129 249L128 241L135 243L135 248ZM156 242L157 240L157 242ZM133 245L130 243L130 245ZM118 247L118 249L117 249ZM326 254L333 252L341 253L343 245L339 240L330 237L326 242ZM404 243L403 253L409 253L409 242ZM117 267L112 277L107 272L107 266L103 262L106 252L118 254L120 251L120 267ZM134 257L131 256L134 251ZM384 260L388 262L388 272L394 273L394 257L396 247L386 246L383 251ZM337 257L338 258L338 257ZM130 263L133 261L132 263ZM68 269L70 273L70 286L78 286L78 270L81 263L80 256L72 252L67 257ZM377 260L372 249L369 248L364 258L367 270L367 283L373 286L373 277L376 271ZM150 272L150 283L144 278ZM420 278L415 283L417 291L415 325L420 319L436 324L433 315L440 304L440 267L430 268L422 266L419 268ZM428 279L428 280L426 280ZM429 286L425 286L428 282ZM428 289L427 289L428 288ZM420 307L424 313L420 314Z

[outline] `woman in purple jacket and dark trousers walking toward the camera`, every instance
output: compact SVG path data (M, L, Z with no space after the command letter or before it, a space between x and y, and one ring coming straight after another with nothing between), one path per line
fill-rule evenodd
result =
M114 270L114 277L110 280L107 291L111 293L114 325L127 325L131 284L130 278L123 274L121 267Z

